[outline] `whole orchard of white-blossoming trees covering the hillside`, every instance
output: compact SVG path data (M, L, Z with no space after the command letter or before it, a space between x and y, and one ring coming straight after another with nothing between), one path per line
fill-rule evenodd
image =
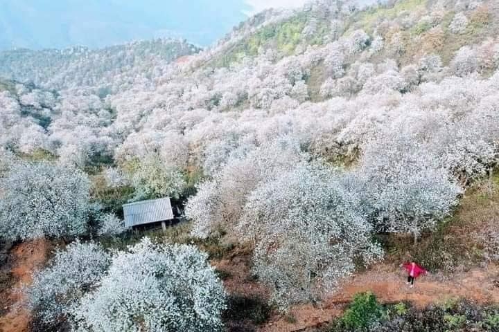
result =
M498 35L495 0L316 0L204 50L0 52L0 238L58 245L26 306L58 331L224 331L207 243L244 248L279 313L382 261L380 237L416 248L496 172ZM184 233L125 228L121 205L165 196Z

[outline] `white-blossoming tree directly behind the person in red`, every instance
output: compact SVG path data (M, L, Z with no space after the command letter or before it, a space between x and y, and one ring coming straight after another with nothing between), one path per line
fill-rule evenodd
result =
M417 137L385 134L365 145L358 171L378 228L412 234L414 243L450 214L462 193L428 151Z

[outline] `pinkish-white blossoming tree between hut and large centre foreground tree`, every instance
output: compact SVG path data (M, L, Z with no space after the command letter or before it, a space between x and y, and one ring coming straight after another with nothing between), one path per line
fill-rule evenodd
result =
M211 181L200 185L197 196L189 199L186 216L193 221L193 234L206 238L217 230L234 234L247 196L260 183L276 178L306 158L296 140L279 137L234 156Z

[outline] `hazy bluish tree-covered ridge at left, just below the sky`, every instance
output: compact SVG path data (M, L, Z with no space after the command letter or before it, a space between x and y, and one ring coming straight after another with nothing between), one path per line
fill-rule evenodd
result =
M200 48L173 39L155 39L98 50L8 50L0 52L0 75L21 82L33 81L48 89L91 86L112 91L123 83L121 73L151 77L169 62L198 53Z

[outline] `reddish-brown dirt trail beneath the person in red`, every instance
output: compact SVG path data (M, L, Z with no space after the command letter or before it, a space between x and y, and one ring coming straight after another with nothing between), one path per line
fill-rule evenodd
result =
M479 303L499 303L499 268L488 266L476 268L466 273L456 273L452 279L427 275L417 279L414 288L405 284L405 273L394 272L393 266L381 265L365 273L360 273L344 282L338 293L326 299L317 307L306 305L292 310L294 322L284 317L273 317L263 326L261 332L297 332L326 324L332 317L342 313L344 306L351 302L353 295L371 291L380 302L411 302L424 307L432 303L442 303L447 299L466 297Z

